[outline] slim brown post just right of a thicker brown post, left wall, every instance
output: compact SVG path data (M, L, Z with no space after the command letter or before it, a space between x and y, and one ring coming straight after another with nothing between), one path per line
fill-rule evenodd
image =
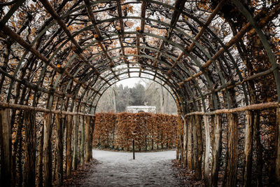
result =
M63 127L62 115L55 114L56 123L56 152L57 152L57 186L62 185L63 181Z

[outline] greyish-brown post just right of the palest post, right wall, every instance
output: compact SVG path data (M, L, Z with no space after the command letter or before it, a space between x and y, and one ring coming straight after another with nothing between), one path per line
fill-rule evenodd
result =
M218 169L220 165L220 156L222 151L222 119L216 114L214 119L214 146L212 148L212 169L211 169L211 186L218 186Z

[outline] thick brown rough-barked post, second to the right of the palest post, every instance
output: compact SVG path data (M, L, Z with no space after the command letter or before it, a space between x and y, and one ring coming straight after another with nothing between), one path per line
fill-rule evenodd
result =
M237 183L237 114L228 114L228 172L226 186L236 186Z

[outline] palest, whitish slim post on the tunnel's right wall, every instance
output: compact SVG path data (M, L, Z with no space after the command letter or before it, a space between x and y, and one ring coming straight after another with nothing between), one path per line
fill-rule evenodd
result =
M209 130L209 116L203 116L205 129L205 153L204 153L204 181L205 186L210 185L209 180L209 154L210 154L210 130Z

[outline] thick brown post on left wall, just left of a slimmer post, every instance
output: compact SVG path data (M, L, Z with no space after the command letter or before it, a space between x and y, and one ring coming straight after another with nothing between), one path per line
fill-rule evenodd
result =
M43 183L44 186L52 186L52 150L50 146L52 113L45 113L43 126Z

